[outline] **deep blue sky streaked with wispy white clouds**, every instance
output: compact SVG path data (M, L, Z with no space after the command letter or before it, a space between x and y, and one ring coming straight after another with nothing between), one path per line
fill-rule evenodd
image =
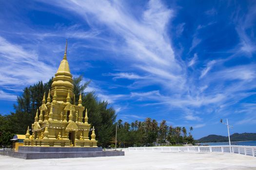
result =
M256 132L253 0L1 0L0 113L51 78L68 39L74 76L123 121L194 127L195 138Z

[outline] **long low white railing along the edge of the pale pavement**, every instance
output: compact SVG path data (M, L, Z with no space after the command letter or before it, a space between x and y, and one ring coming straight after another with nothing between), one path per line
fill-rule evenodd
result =
M231 149L231 152L230 152ZM220 153L238 153L256 157L256 146L160 146L160 147L129 147L129 152L220 152Z

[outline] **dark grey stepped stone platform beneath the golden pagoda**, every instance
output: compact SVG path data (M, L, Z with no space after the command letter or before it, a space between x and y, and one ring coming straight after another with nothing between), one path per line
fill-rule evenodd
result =
M98 148L82 147L27 147L20 146L19 151L1 151L0 155L12 156L21 159L52 159L52 158L76 158L98 156L123 156L122 151L102 151Z

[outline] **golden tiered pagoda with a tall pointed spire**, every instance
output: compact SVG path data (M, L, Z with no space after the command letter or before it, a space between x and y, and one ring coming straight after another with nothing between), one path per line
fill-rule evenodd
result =
M32 124L32 135L28 127L24 146L97 147L94 127L91 129L88 123L87 109L83 118L85 108L82 106L81 94L76 105L73 88L72 74L67 61L66 41L64 56L53 78L47 101L44 93L42 105ZM90 130L91 139L89 139Z

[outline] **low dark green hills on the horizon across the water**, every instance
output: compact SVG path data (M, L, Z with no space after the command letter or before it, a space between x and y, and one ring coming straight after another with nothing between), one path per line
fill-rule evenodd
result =
M247 140L256 140L256 133L235 133L230 136L230 140L233 142L236 141L247 141ZM219 136L219 135L208 135L197 139L196 143L207 143L207 142L228 142L228 136Z

